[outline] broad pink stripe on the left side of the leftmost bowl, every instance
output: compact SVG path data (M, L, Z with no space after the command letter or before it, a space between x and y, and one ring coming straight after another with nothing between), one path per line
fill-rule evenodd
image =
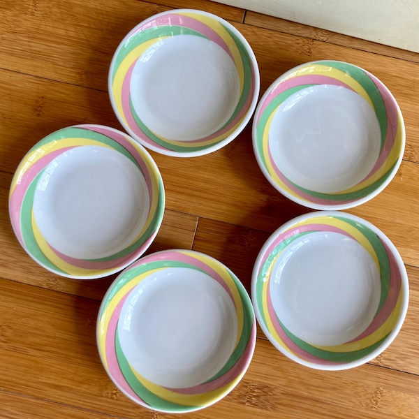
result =
M48 166L54 159L56 159L60 154L67 152L74 147L64 147L61 149L54 150L45 156L41 157L36 163L24 172L22 177L20 178L19 182L15 186L15 190L13 191L12 195L10 196L9 200L9 208L10 208L10 220L13 224L13 228L15 230L17 239L23 244L23 237L22 237L22 230L20 229L20 212L22 210L22 203L24 200L24 196L27 193L27 189L34 181L35 177L43 170L45 167ZM24 162L27 163L27 159L24 159ZM23 161L22 161L23 163ZM20 163L22 165L22 163ZM20 170L22 172L22 169Z

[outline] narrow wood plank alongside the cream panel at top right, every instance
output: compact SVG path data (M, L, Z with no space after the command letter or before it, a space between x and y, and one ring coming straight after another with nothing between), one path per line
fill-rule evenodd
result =
M355 50L373 52L374 54L380 54L385 57L399 58L416 63L419 62L419 54L417 52L401 50L400 48L390 47L381 43L375 43L365 39L339 34L337 32L309 26L307 24L291 22L291 20L264 15L263 13L257 13L251 10L247 10L243 23L250 24L255 27L284 32L286 34L302 36L303 38L310 38L315 41L321 41L328 44L341 45L342 47L350 47Z

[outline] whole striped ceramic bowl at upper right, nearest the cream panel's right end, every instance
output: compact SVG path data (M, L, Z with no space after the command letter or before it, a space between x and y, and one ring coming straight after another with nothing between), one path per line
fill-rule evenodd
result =
M253 119L253 149L284 196L317 210L374 198L404 153L402 113L385 85L341 61L314 61L281 75Z

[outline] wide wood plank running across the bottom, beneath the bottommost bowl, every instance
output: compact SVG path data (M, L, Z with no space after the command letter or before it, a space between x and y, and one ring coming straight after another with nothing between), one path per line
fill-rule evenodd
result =
M98 302L0 279L0 304L0 390L106 415L156 418L122 395L104 372L94 337ZM375 365L309 369L258 339L243 381L193 418L411 419L419 412L417 381L415 374Z

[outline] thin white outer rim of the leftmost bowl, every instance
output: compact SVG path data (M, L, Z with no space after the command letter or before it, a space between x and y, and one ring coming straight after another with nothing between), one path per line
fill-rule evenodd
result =
M87 129L89 131L94 131L94 132L98 132L98 131L95 131L96 129L101 129L101 130L105 130L105 131L110 131L110 133L115 133L117 135L122 135L126 140L128 140L128 142L130 142L135 147L135 152L138 152L138 150L136 148L140 149L140 152L142 154L140 154L138 152L138 156L140 156L140 158L143 161L147 162L147 166L149 166L149 168L150 168L149 174L150 174L150 176L152 176L154 178L154 181L156 182L156 184L159 184L159 188L160 188L159 196L157 198L156 220L153 223L153 226L155 227L154 230L152 230L152 232L146 237L146 240L142 244L140 244L140 246L137 249L135 249L134 251L131 252L131 256L127 257L127 260L124 261L124 263L121 263L120 265L118 264L118 265L116 265L115 267L112 267L112 268L90 270L91 272L95 272L93 274L71 274L71 273L68 273L68 272L61 272L61 270L54 270L52 267L45 265L45 263L43 263L41 260L36 258L36 256L31 251L29 251L29 249L27 248L27 245L24 244L24 242L22 240L20 240L20 235L17 234L17 226L15 225L15 222L13 221L12 208L11 208L11 205L10 205L11 198L12 198L13 191L14 191L13 185L17 186L17 184L18 184L17 179L24 172L26 172L26 170L24 169L24 167L22 167L22 165L24 164L25 161L27 161L29 154L31 154L31 152L34 152L34 150L36 150L38 145L40 145L40 143L43 140L45 140L46 138L48 138L52 135L56 135L56 134L60 133L61 131L64 132L64 131L66 131L68 129L71 129L71 128L82 128L82 129ZM107 134L103 134L103 135L108 136ZM109 137L109 138L111 138L112 140L114 140L115 142L117 142L119 144L119 140L117 140L115 138L112 138L112 137ZM131 152L130 152L130 154L131 154ZM43 169L45 169L45 167L43 167ZM105 125L101 125L101 124L74 124L74 125L70 125L70 126L64 126L64 127L59 128L55 131L52 131L51 133L48 133L47 135L44 135L43 138L38 140L24 154L20 163L17 165L15 173L12 177L11 182L10 182L10 188L9 188L9 193L8 193L8 214L9 214L10 224L12 226L13 233L15 234L15 237L17 238L17 241L20 243L22 249L24 249L24 251L27 253L27 255L30 256L31 259L34 260L38 265L43 267L45 270L48 270L49 272L52 272L54 274L59 275L60 277L65 277L65 278L69 278L69 279L90 280L90 279L100 279L100 278L103 278L103 277L108 277L112 274L115 274L115 273L121 271L121 270L124 270L124 268L126 266L133 263L133 261L138 259L140 256L142 256L143 253L145 253L145 251L147 251L147 249L152 244L152 242L154 241L154 238L156 237L157 233L159 232L159 230L161 228L161 223L163 222L163 216L164 216L165 203L166 203L166 193L165 193L165 189L164 189L163 178L161 177L161 172L159 170L159 167L156 165L156 162L152 158L151 154L149 154L149 152L147 151L147 149L145 149L145 147L138 144L138 142L135 142L133 140L133 138L131 138L131 136L128 135L127 133L125 133L123 131L119 131L118 129L112 128L110 126L105 126ZM21 205L19 206L19 210L20 210L20 208L21 208ZM19 223L20 222L21 221L20 221L20 217L19 217ZM89 270L89 269L87 268L87 270Z

